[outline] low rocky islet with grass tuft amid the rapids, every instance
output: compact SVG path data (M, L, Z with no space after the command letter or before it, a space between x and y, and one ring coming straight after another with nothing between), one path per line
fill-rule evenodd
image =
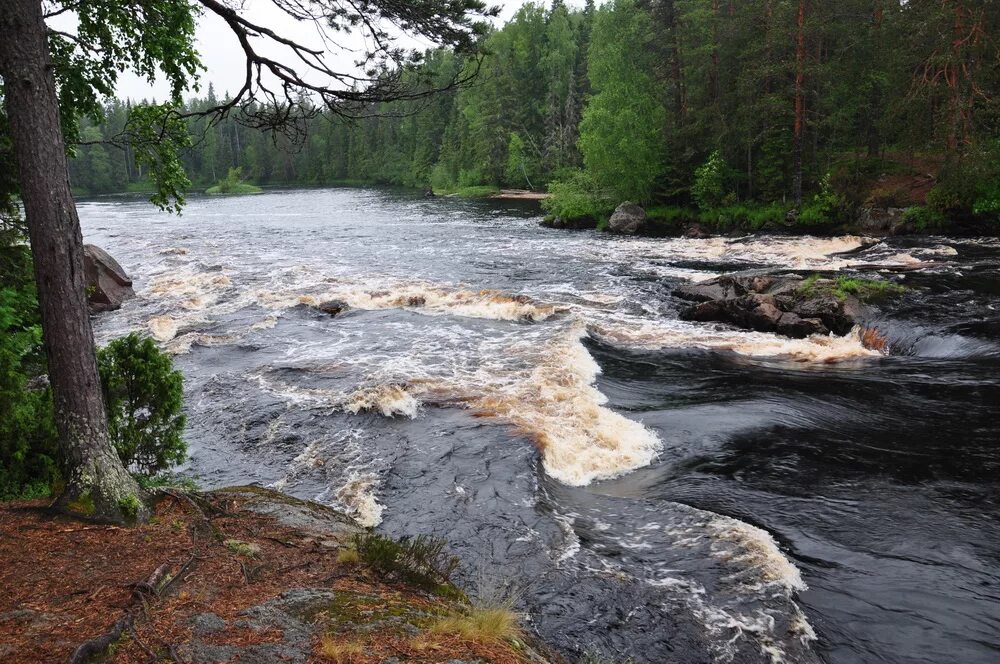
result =
M674 296L694 303L681 311L683 320L729 323L795 339L843 336L860 322L863 308L853 295L836 292L834 283L795 275L727 275L686 284Z

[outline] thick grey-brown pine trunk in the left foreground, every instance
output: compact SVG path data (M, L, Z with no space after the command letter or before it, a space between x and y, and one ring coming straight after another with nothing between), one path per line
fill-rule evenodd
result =
M146 516L139 487L108 439L83 276L83 236L70 192L40 0L5 0L0 75L18 162L66 489L58 505L116 522Z

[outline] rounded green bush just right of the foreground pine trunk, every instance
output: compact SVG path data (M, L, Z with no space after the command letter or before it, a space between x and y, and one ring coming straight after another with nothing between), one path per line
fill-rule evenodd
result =
M187 454L183 379L152 339L130 334L98 352L111 441L126 468L155 474Z

